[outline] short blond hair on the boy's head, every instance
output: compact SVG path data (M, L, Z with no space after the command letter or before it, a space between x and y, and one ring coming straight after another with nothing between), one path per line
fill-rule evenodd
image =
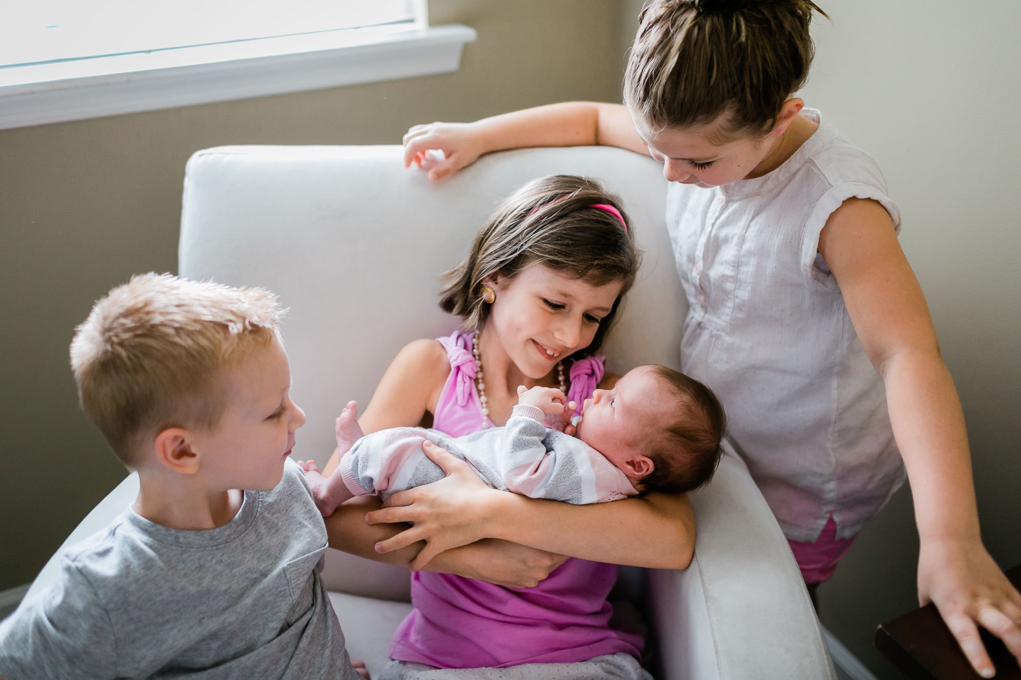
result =
M279 341L282 314L262 289L133 276L95 304L71 341L82 409L134 469L145 433L216 424L224 369Z

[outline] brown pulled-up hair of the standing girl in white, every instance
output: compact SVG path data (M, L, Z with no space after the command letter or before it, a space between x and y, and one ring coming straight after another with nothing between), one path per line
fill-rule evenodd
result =
M624 98L657 129L726 114L726 139L768 133L809 76L812 0L654 0L640 16Z

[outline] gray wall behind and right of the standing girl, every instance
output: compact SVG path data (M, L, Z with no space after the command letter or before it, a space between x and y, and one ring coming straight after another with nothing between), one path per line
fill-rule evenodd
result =
M879 161L904 215L901 243L925 291L964 404L982 534L1021 563L1021 4L828 0L804 91ZM880 678L875 626L917 606L918 536L902 490L820 588L823 623Z

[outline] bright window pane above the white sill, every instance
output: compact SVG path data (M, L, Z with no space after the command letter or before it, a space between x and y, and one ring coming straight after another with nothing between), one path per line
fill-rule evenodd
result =
M0 68L424 21L416 0L4 3Z

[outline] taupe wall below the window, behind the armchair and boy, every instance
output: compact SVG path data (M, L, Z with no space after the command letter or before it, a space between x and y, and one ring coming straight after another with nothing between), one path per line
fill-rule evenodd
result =
M399 144L407 127L612 100L617 3L433 0L478 42L456 73L0 132L0 590L27 583L126 474L78 409L75 325L177 269L185 161L222 144Z

